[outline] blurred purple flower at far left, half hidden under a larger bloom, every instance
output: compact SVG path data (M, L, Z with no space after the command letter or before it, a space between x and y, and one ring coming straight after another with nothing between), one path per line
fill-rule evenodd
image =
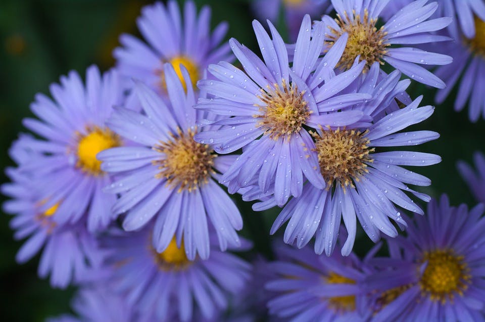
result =
M34 157L31 162L42 161L41 156ZM17 253L17 262L28 261L43 248L39 277L46 278L50 274L51 286L57 288L84 282L90 272L100 267L103 259L98 242L86 230L85 220L59 225L53 217L60 204L44 209L47 201L35 194L48 182L34 180L19 169L7 168L6 172L12 182L2 186L2 193L12 199L3 204L3 210L14 215L10 221L15 230L14 238L27 238Z

